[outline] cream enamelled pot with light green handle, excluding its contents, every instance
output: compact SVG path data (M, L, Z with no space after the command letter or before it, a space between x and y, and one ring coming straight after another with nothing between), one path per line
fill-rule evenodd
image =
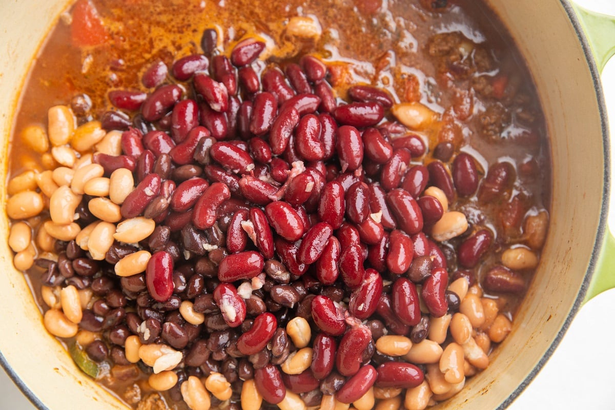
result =
M66 0L10 2L2 7L0 43L0 165L6 179L7 145L18 93L31 57L66 7ZM599 70L615 53L615 23L565 0L490 0L525 56L538 85L552 149L552 220L544 256L513 331L491 365L440 408L506 408L549 359L583 302L615 287L615 240L606 226L609 138ZM579 20L579 17L581 20ZM582 26L598 34L590 42ZM605 39L605 41L600 41ZM0 199L6 200L4 189ZM47 334L23 275L12 266L8 221L0 216L0 360L39 408L125 409L81 373Z

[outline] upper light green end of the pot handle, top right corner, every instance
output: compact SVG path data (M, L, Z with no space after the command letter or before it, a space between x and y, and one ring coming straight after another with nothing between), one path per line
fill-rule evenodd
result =
M615 16L587 10L574 2L572 5L602 73L606 61L615 55Z

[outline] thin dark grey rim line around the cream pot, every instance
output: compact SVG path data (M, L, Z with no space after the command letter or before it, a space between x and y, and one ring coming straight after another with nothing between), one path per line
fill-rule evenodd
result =
M581 43L583 54L585 57L585 62L589 67L590 74L592 76L592 81L594 85L595 97L598 104L598 112L600 114L601 120L601 130L602 130L602 142L603 142L603 155L604 155L604 174L603 174L603 192L602 192L602 201L601 201L601 209L600 209L600 223L598 224L598 230L596 234L596 240L593 245L592 255L589 261L589 266L587 267L587 271L585 272L585 277L583 283L581 285L581 289L579 293L577 293L577 297L574 301L572 309L569 311L568 316L566 317L565 322L561 326L558 331L557 336L555 336L554 341L549 346L549 349L542 355L539 362L534 366L530 374L525 377L525 379L521 382L520 385L514 390L514 392L510 393L510 395L506 398L506 400L502 401L502 403L498 406L498 410L504 410L510 404L517 399L517 397L525 390L525 388L532 382L534 377L538 375L544 365L549 361L551 355L555 352L561 340L568 331L570 324L572 323L574 317L581 309L583 301L585 299L585 294L590 285L590 281L592 280L593 275L596 272L598 266L598 258L600 257L601 252L603 251L603 242L606 236L606 232L608 229L608 209L609 209L609 195L611 194L611 143L609 140L609 125L608 125L608 117L606 115L606 103L603 94L603 88L600 81L600 70L596 64L596 61L593 57L593 53L590 47L589 40L587 39L586 34L584 33L581 23L579 22L579 18L574 11L573 6L569 0L559 0L561 6L565 10L568 15L568 19L572 24L574 31L576 32L577 39ZM17 373L12 369L9 365L8 361L0 352L0 366L6 371L7 375L10 377L12 382L21 390L23 395L31 401L31 403L39 410L50 410L42 401L36 396L36 394L23 382L22 379L18 376Z

